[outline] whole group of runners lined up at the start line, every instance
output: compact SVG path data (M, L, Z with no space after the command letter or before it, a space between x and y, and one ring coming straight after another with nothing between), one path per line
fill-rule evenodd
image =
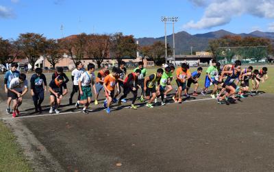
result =
M172 81L175 80L177 89L172 99L175 103L182 103L182 95L190 97L188 91L192 84L194 85L193 96L198 95L199 78L203 71L202 67L198 67L197 71L190 73L189 66L183 63L182 66L175 69L175 66L165 65L164 68L157 69L155 73L148 75L142 62L138 63L138 67L132 73L127 73L125 62L121 62L119 67L113 67L109 70L108 65L104 65L97 76L95 76L95 65L88 64L84 70L82 62L76 62L75 69L71 73L73 88L69 98L69 104L73 104L73 96L77 93L77 101L75 108L83 105L82 112L88 113L88 107L92 103L92 93L94 93L95 106L99 104L98 97L101 90L104 91L105 101L103 106L107 113L111 112L112 103L125 103L127 95L132 93L132 104L130 108L136 110L136 99L140 102L147 102L148 108L153 108L154 103L161 99L161 105L166 104L169 99L168 95L174 89ZM5 93L8 94L7 109L8 114L12 117L20 115L18 107L21 106L22 97L28 91L28 82L24 73L16 71L18 64L12 63L10 71L5 73L4 84ZM208 94L208 88L212 85L213 90L211 97L216 99L218 103L224 101L235 101L238 98L244 98L249 91L249 80L252 80L252 90L256 93L260 86L260 82L268 79L267 68L254 69L252 66L247 68L241 67L241 62L236 60L234 64L227 64L221 69L221 64L212 60L212 64L206 71L206 79L201 94ZM62 68L58 68L52 74L51 82L47 85L47 79L42 73L42 69L36 68L35 73L30 79L30 92L34 101L35 112L42 112L42 101L45 93L50 93L50 110L49 113L59 114L60 103L68 93L67 84L69 78L63 72ZM140 97L138 98L138 90ZM123 90L123 92L122 92ZM119 98L118 98L119 97ZM12 102L12 108L10 104Z

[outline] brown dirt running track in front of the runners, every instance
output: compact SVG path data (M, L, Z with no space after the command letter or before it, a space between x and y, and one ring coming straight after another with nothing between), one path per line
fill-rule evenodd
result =
M67 114L18 119L1 106L1 117L26 127L64 171L274 171L274 95L230 105L197 99L205 100L111 115L66 106ZM47 171L56 170L51 167Z

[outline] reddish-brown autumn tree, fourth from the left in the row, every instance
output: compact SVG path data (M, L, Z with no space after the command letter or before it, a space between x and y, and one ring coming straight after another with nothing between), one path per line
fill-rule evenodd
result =
M76 64L76 62L82 60L85 56L86 41L87 35L82 33L70 38L62 38L60 43L65 53L71 56L71 60Z

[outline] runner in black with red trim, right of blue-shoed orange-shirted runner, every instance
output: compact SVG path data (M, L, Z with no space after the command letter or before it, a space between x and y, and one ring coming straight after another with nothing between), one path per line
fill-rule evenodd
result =
M138 76L140 75L141 70L136 69L135 72L129 73L125 78L124 87L123 87L123 95L120 97L118 104L121 105L121 101L125 99L129 92L132 92L133 99L132 99L132 106L130 108L136 110L137 107L135 106L135 101L137 98L137 90L138 90Z

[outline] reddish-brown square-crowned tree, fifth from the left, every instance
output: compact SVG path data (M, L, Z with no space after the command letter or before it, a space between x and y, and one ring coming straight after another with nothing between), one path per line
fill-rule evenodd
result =
M103 34L88 35L86 42L86 56L101 68L101 63L109 54L110 36Z

